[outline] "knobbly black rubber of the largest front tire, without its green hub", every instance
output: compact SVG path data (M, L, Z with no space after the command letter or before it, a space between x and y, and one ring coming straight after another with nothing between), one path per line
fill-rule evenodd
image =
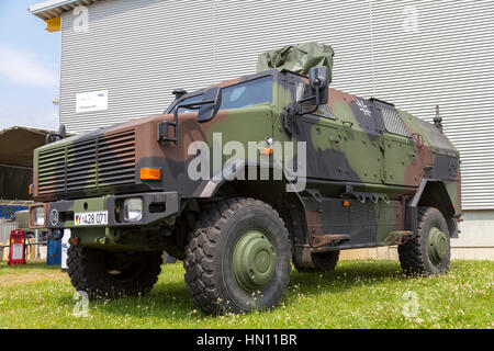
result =
M234 248L243 233L260 230L276 252L274 272L260 292L248 293L233 273ZM270 205L232 199L204 208L187 247L186 282L197 307L207 315L265 310L280 304L290 282L291 245L283 220Z

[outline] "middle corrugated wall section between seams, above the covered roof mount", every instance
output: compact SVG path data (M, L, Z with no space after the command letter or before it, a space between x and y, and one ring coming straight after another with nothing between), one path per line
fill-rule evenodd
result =
M214 13L215 79L254 72L266 50L318 41L336 52L334 87L372 94L368 2L216 0Z

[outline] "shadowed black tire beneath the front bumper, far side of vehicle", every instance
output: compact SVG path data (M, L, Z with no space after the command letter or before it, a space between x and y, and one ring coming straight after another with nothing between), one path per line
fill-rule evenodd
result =
M143 253L123 273L109 272L111 252L71 245L68 249L68 275L77 291L90 299L109 299L148 293L161 272L162 252Z

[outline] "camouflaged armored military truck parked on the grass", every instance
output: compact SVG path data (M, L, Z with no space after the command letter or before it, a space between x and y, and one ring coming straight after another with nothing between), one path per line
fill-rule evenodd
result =
M31 220L70 230L76 290L147 293L164 250L206 314L272 308L292 263L332 271L341 250L397 245L407 274L447 272L459 152L439 116L329 89L333 56L318 43L268 52L257 73L177 89L161 115L49 136Z

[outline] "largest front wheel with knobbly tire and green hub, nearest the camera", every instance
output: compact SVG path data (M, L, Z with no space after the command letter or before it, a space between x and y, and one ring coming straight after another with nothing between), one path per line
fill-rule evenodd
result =
M216 315L280 304L290 261L289 235L279 214L261 201L234 199L203 211L183 265L195 305Z

